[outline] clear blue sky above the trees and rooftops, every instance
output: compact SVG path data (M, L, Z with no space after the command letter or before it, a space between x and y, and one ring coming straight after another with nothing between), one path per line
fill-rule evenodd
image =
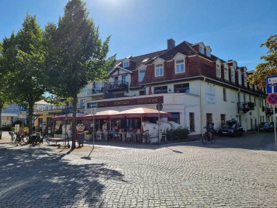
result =
M0 40L18 31L26 12L42 28L57 23L67 0L1 0ZM224 60L255 69L267 49L260 48L277 33L274 0L87 0L89 17L104 40L111 35L109 55L136 56L166 49L166 40L204 42Z

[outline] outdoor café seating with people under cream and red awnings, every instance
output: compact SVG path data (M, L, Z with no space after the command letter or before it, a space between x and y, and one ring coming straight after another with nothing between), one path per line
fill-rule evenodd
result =
M166 121L171 114L163 111L137 107L123 112L114 110L99 111L96 114L80 114L77 123L83 123L84 132L90 135L89 140L117 141L127 143L142 143L143 135L148 132L150 137L158 137L157 121ZM70 115L60 115L52 118L55 125L66 124L71 130ZM94 138L93 138L94 136Z

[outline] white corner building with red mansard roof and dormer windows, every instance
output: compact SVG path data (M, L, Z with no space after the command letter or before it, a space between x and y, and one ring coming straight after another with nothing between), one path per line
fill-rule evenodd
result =
M93 81L80 94L84 113L90 103L98 103L98 111L129 110L134 107L172 113L170 120L187 126L190 135L201 135L208 119L221 123L235 119L244 130L253 130L262 121L273 121L272 106L265 91L247 83L247 67L235 60L222 60L212 54L203 42L191 44L168 40L168 48L116 62L109 81ZM152 99L151 99L152 98ZM154 99L157 98L157 99Z

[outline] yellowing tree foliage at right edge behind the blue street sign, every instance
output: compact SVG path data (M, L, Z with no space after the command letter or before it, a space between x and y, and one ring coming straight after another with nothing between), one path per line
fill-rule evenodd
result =
M268 49L267 55L260 57L265 62L256 66L254 73L248 76L248 81L250 85L257 85L262 89L265 87L265 78L277 74L277 34L270 36L267 42L260 46L267 46Z

